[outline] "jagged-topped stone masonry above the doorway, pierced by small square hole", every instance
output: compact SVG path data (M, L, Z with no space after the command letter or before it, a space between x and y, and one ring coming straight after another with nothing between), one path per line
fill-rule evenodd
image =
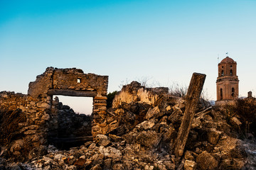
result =
M38 96L107 96L107 76L84 74L82 69L57 69L48 67L46 72L29 84L28 95Z

